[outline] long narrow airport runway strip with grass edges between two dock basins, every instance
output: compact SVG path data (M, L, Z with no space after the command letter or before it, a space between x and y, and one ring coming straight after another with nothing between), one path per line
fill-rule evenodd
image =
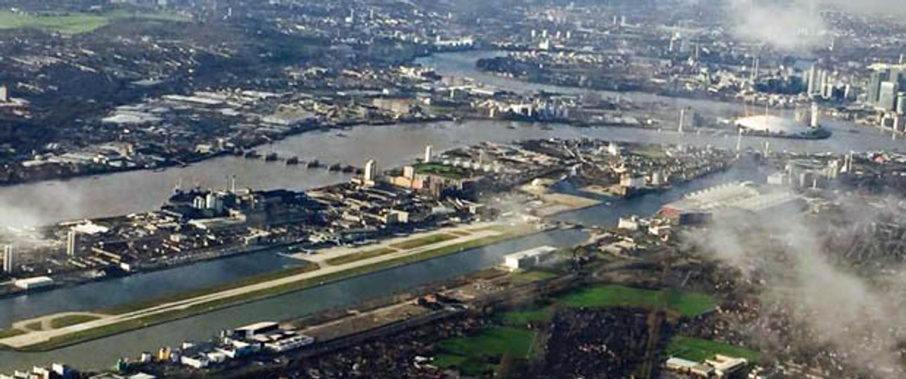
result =
M474 233L449 242L425 244L424 246L396 253L361 261L352 261L337 266L321 267L318 270L308 272L284 272L285 276L280 278L268 278L268 280L263 282L256 281L255 283L243 282L239 284L239 287L231 289L207 290L207 293L204 294L192 294L191 298L168 298L135 307L124 306L120 309L114 309L114 311L122 311L124 313L103 314L101 318L96 320L53 330L26 331L26 333L18 336L0 339L0 344L12 347L18 351L38 352L53 350L92 339L166 323L179 318L192 317L221 308L235 307L248 302L273 298L285 293L309 289L337 280L345 280L367 273L426 261L453 252L504 242L538 232L535 228L526 227L525 225L514 227L500 224L483 225L475 231L472 231L470 227L468 230ZM457 231L450 229L444 232ZM417 236L415 238L422 237ZM350 251L349 253L355 252ZM30 320L23 320L22 323L27 325L31 322Z

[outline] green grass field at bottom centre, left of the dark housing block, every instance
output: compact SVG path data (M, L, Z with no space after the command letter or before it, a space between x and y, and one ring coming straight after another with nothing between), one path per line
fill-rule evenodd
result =
M510 355L518 359L532 357L536 333L514 327L493 327L476 336L450 338L440 341L446 354L438 355L434 365L457 367L463 374L478 375L494 369L487 357Z

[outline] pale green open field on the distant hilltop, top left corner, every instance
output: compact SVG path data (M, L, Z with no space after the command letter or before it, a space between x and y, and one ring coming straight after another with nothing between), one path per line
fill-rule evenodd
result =
M93 32L115 20L142 19L158 21L188 21L178 14L134 13L120 9L103 14L20 14L0 11L0 29L39 29L49 33L79 34Z

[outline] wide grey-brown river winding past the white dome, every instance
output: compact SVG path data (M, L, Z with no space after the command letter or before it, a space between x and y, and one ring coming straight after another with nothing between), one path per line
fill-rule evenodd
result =
M497 88L514 91L548 90L564 93L587 90L526 83L477 71L478 58L499 55L500 52L451 52L419 60L444 75L462 75L490 83ZM691 107L697 111L730 116L738 114L741 106L734 103L703 99L669 98L649 93L602 92L606 96L622 96L652 107ZM512 125L517 128L508 128ZM873 149L899 150L901 140L874 128L857 127L852 123L828 120L826 128L834 136L824 140L790 140L745 137L743 147L761 149L766 142L775 151L847 152ZM435 151L461 147L482 141L509 142L515 139L546 137L597 137L617 141L685 143L724 148L736 146L736 136L697 136L674 131L643 130L638 128L572 128L554 125L551 129L539 125L506 121L432 122L392 126L361 126L335 132L314 131L288 137L272 145L259 147L263 152L281 156L317 158L322 162L363 166L376 159L380 166L398 166L421 155L425 145ZM853 133L852 130L858 130ZM304 166L285 166L283 163L263 162L236 156L221 156L187 167L169 168L162 172L134 171L95 177L46 181L0 187L0 225L54 223L63 220L111 216L147 211L160 206L175 185L183 187L223 187L226 177L236 175L237 185L256 189L311 189L333 185L349 179L349 175L328 172L326 169L306 169Z

